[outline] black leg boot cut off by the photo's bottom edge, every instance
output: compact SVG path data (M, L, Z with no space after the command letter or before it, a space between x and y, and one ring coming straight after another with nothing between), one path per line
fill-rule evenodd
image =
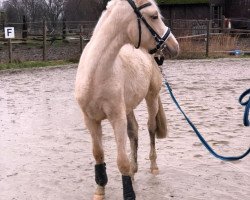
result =
M122 176L123 199L135 200L135 192L133 190L132 180L130 176Z

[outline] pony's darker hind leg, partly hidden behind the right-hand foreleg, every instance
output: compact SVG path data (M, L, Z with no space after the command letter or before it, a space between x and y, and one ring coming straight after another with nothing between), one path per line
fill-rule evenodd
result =
M135 119L134 112L132 111L127 115L128 137L130 140L131 158L130 158L130 172L131 177L134 179L134 174L138 170L137 164L137 150L138 150L138 123Z

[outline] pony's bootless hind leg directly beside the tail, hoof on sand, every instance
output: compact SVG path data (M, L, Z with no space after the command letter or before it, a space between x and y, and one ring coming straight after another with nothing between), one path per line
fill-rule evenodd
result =
M150 136L150 153L149 153L149 159L150 159L150 170L151 173L157 174L159 169L156 163L157 154L155 150L155 136L156 136L156 115L158 112L158 97L152 97L147 96L146 97L146 103L148 107L148 131Z

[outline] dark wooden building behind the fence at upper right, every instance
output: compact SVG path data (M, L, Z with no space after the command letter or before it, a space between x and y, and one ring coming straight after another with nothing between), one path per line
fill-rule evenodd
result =
M250 0L157 0L162 15L168 20L213 20L222 26L230 18L235 28L250 29ZM238 20L238 21L237 21ZM241 21L245 21L243 23ZM240 25L241 24L241 25Z

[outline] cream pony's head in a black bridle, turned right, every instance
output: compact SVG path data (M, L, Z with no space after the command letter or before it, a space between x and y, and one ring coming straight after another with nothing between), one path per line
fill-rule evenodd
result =
M170 29L162 21L154 0L126 0L132 18L128 24L128 37L136 47L143 47L153 54L161 51L177 56L179 44Z

